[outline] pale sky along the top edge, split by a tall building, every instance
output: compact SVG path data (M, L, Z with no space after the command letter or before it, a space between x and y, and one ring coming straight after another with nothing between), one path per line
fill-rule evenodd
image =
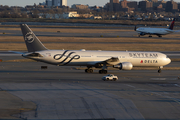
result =
M98 5L104 6L110 0L67 0L68 6L72 4L89 4L90 6ZM33 5L34 3L39 4L39 2L45 2L45 0L0 0L0 5L8 6L25 6Z

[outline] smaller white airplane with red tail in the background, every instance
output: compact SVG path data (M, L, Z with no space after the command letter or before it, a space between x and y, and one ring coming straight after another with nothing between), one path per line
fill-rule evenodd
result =
M173 30L174 27L175 18L171 22L168 28L150 28L150 27L139 27L136 29L136 26L134 30L139 34L140 36L149 35L149 37L152 37L152 35L157 35L158 37L162 37L162 35L167 35L173 32L177 32Z

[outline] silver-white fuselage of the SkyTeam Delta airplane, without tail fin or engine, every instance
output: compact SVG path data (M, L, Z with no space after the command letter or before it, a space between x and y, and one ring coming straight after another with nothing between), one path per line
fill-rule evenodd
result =
M119 61L130 62L133 66L159 67L171 62L160 52L128 52L128 51L86 51L86 50L44 50L23 54L23 57L58 66L95 66L101 61L117 58Z

